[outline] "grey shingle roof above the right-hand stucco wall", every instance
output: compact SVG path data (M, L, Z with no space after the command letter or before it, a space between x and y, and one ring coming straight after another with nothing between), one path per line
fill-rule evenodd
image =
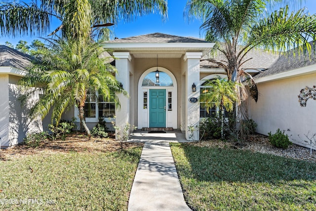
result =
M265 76L271 76L278 73L283 73L297 68L316 64L316 49L313 46L313 42L310 42L310 44L312 45L311 55L309 55L308 53L298 53L297 50L294 54L291 50L288 52L288 54L281 55L271 68L257 74L253 78L259 79Z

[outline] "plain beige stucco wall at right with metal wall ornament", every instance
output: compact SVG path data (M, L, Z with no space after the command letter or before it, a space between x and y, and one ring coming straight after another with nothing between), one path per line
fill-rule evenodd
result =
M316 74L257 84L258 102L249 100L249 115L258 124L257 132L267 135L280 128L292 142L306 145L304 134L316 133L316 100L309 99L301 107L298 95L302 88L313 85Z

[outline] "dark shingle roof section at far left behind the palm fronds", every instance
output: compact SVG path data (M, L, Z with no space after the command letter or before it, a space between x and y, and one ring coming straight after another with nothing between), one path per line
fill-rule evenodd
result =
M0 66L15 67L24 70L31 65L34 59L32 56L10 48L6 45L0 45Z

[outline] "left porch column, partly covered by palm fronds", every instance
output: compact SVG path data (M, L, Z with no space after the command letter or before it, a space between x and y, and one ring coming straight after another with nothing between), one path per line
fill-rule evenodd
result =
M115 66L118 70L116 79L119 83L123 84L123 89L129 93L129 71L132 57L129 52L113 52L113 56L116 57ZM118 127L115 138L121 139L124 127L129 123L129 98L125 97L122 93L118 93L118 100L120 102L120 110L116 109L115 112L115 125Z

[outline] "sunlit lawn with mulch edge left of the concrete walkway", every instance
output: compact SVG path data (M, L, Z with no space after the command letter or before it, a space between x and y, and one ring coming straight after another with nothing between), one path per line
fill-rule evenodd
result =
M0 160L0 210L127 210L142 147L109 142L17 147Z

